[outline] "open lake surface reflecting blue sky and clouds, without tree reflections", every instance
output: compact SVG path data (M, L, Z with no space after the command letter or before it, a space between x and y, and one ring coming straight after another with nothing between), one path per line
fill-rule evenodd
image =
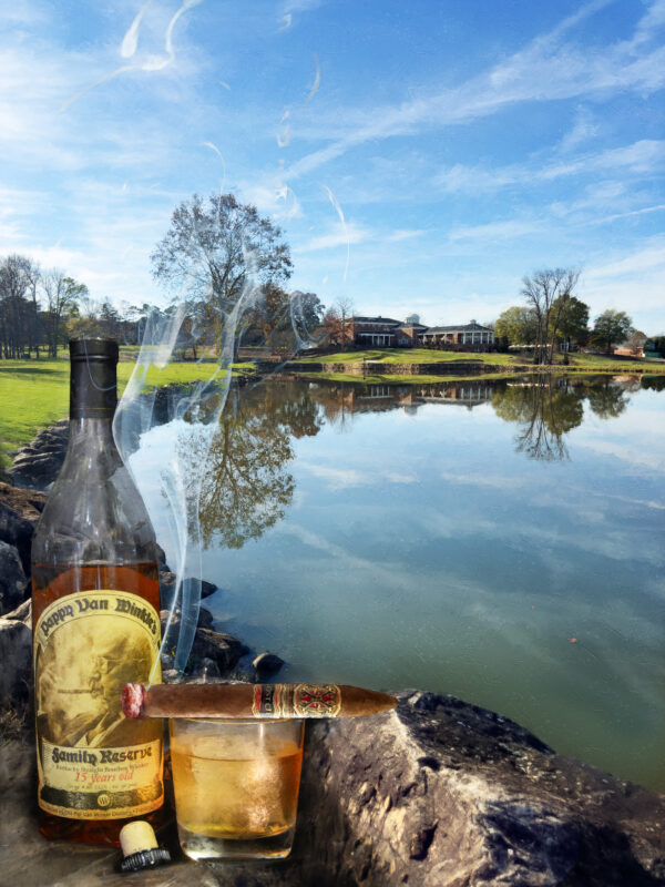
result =
M490 404L356 414L294 440L286 520L204 553L224 628L282 680L418 686L654 784L665 727L665 394L526 459ZM572 643L569 639L576 639ZM659 777L661 788L665 787Z

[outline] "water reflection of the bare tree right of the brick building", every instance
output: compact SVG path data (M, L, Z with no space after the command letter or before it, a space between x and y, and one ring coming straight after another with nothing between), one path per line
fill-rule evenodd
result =
M509 385L494 391L492 406L504 421L519 422L518 452L530 459L570 458L564 435L582 422L583 394L564 379L540 377L528 385Z

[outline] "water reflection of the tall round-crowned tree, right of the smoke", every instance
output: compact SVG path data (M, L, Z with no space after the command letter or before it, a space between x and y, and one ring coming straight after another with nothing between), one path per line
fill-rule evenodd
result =
M238 394L215 434L200 501L201 532L227 548L258 539L284 517L295 483L287 470L291 438L318 434L306 389L268 384Z

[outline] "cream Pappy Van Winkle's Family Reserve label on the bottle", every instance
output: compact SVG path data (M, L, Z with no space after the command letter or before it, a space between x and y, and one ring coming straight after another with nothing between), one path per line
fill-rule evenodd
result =
M162 722L125 718L126 683L161 681L160 614L125 591L59 598L34 626L39 805L75 819L163 803Z

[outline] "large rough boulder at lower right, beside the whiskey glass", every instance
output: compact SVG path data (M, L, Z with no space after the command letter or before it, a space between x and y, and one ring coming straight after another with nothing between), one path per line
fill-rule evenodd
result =
M300 842L321 887L665 884L665 798L452 696L315 723L307 752Z

